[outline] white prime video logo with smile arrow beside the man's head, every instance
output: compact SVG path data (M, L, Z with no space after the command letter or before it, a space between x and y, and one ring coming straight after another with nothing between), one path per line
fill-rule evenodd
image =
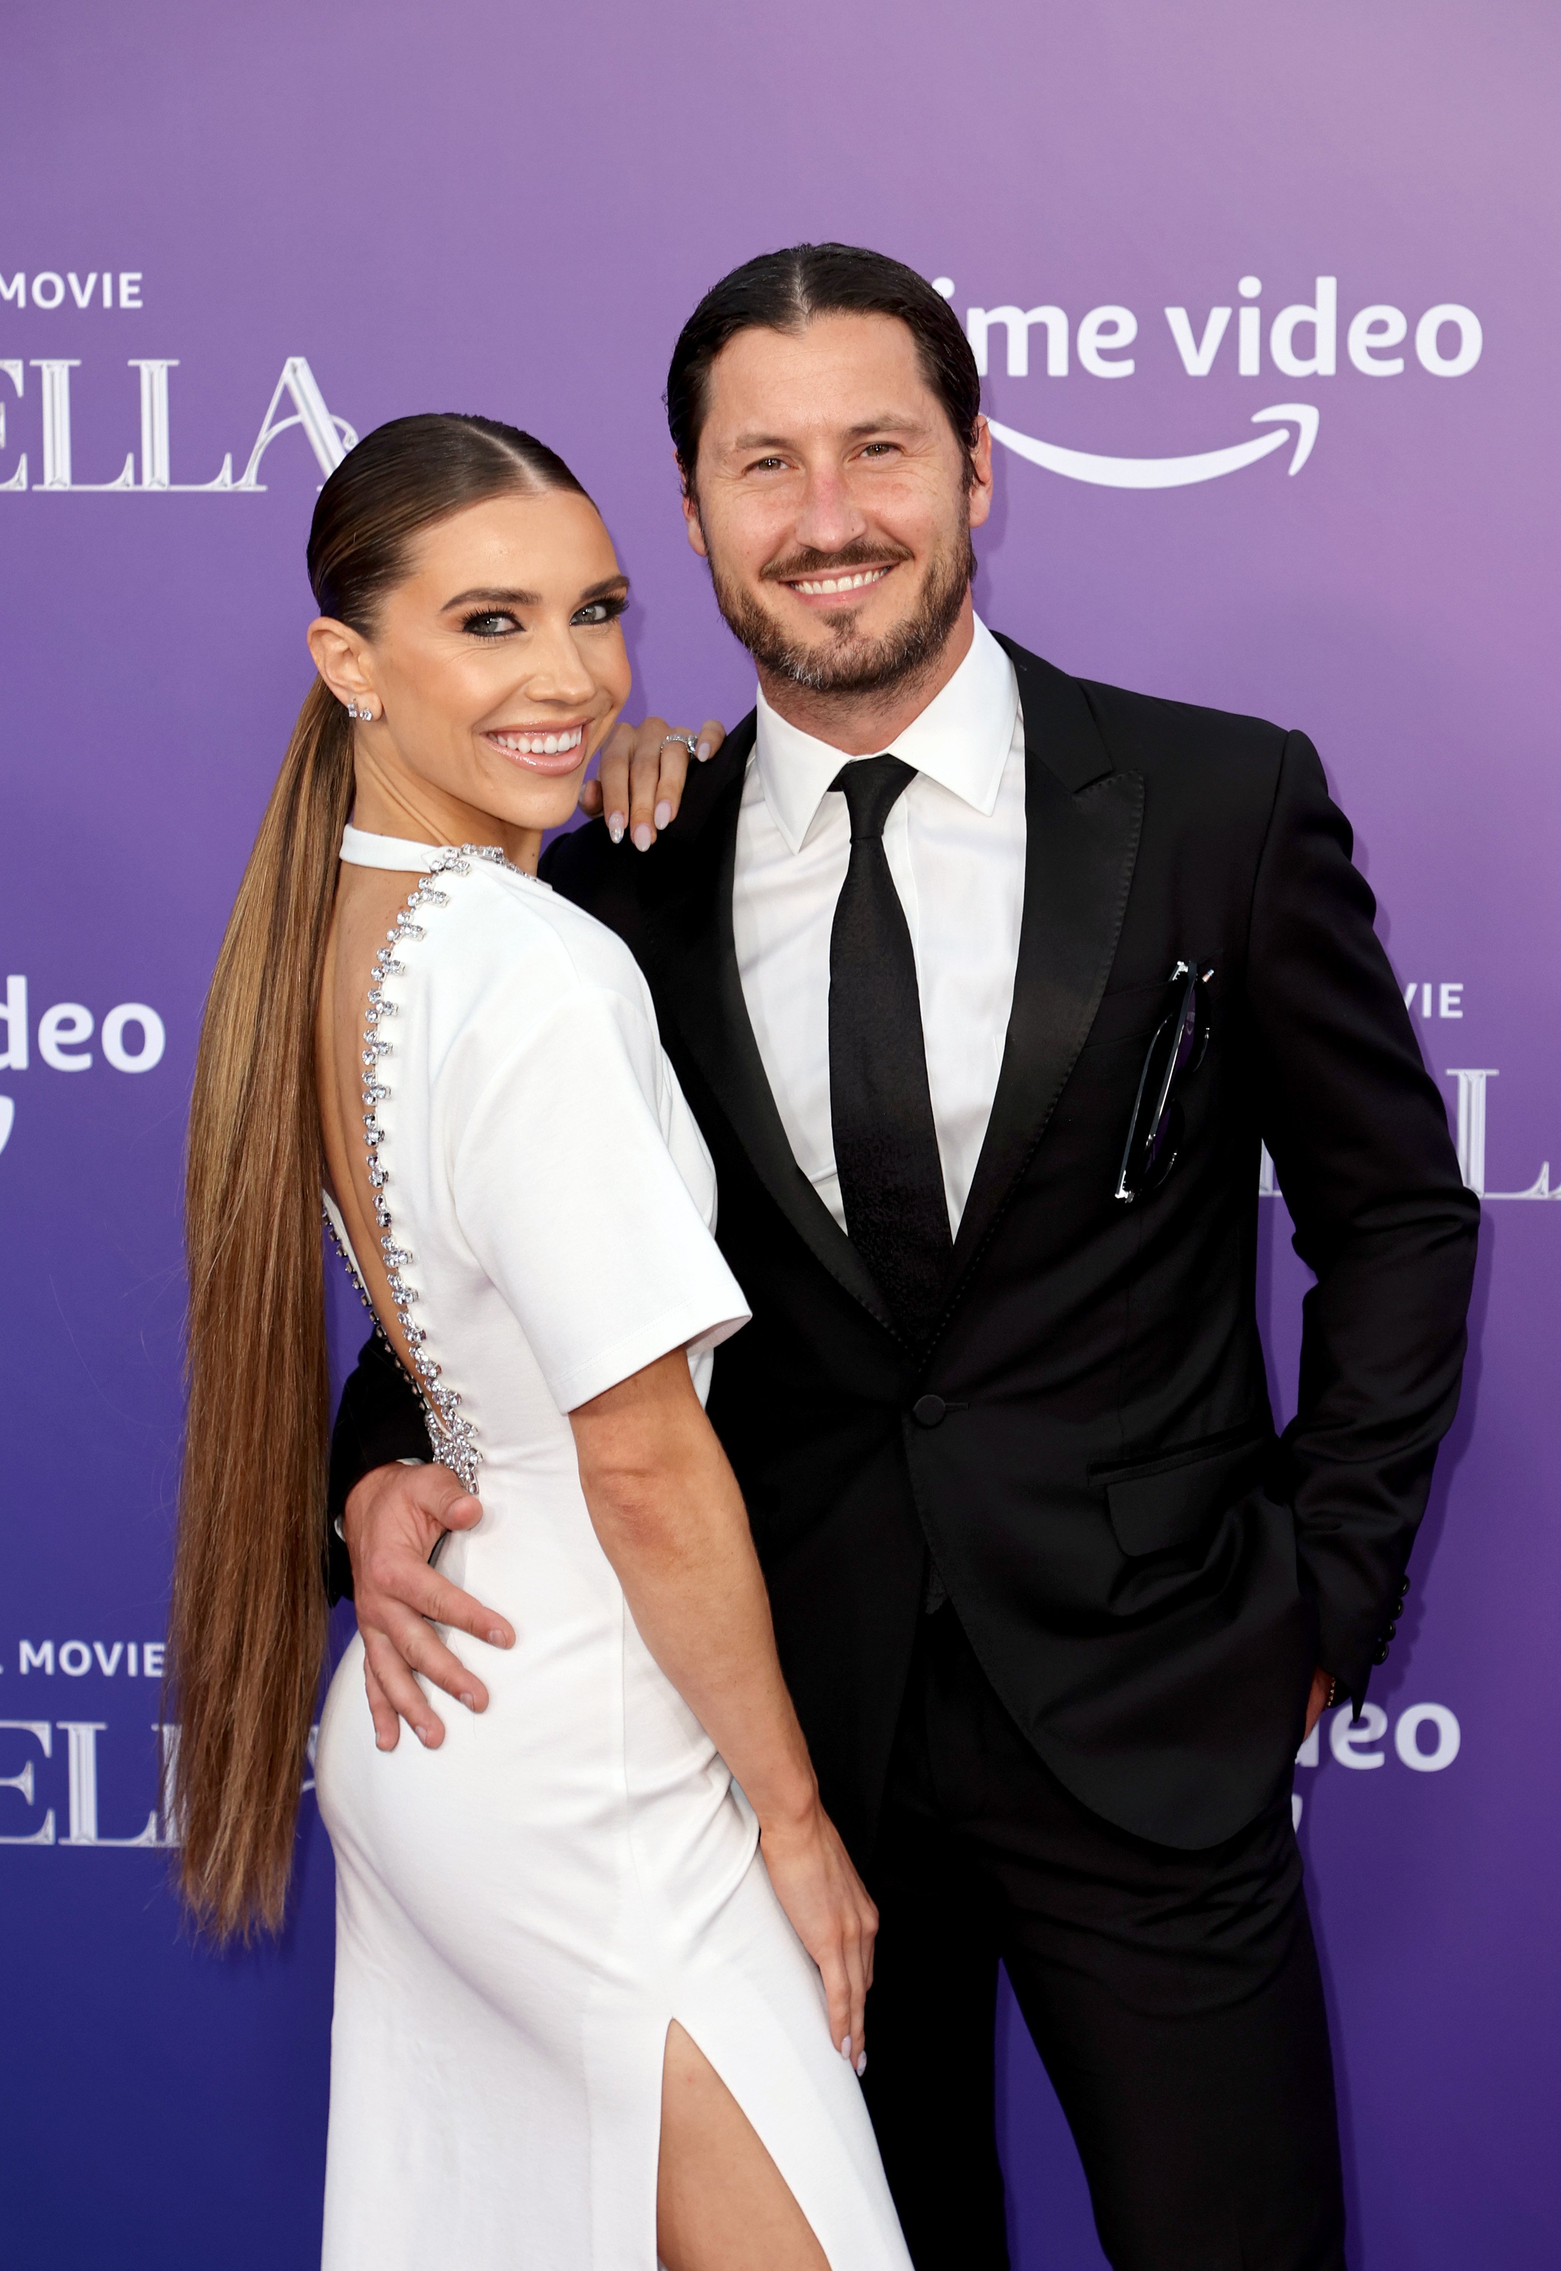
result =
M952 277L934 277L934 291L945 300L954 298ZM1225 307L1209 307L1195 320L1186 307L1166 307L1163 368L1177 368L1188 379L1207 379L1211 372L1232 372L1241 379L1334 379L1338 377L1338 277L1316 277L1313 298L1282 307L1268 322L1261 307L1261 277L1241 277L1236 300ZM1238 302L1238 304L1236 304ZM1234 336L1232 336L1234 318ZM1068 379L1077 370L1088 379L1132 379L1138 357L1129 352L1138 341L1138 318L1129 307L1116 302L1093 307L1077 322L1068 309L1054 304L1020 307L1018 300L1002 307L968 307L966 338L982 377L993 375L995 334L1004 343L1004 377L1045 382ZM1041 334L1043 352L1032 372L1032 338ZM1372 300L1347 318L1343 327L1347 368L1368 379L1402 379L1409 372L1409 354L1395 352L1411 336L1411 318L1402 307ZM1041 345L1036 341L1036 345ZM1147 341L1145 341L1147 345ZM1454 300L1438 300L1413 320L1413 361L1434 379L1461 379L1484 352L1484 332L1470 307ZM1172 363L1175 354L1175 363ZM1145 357L1152 366L1154 352ZM1052 393L1047 384L1047 393ZM1091 481L1097 488L1186 488L1193 481L1218 481L1227 472L1257 466L1277 450L1291 445L1291 475L1309 461L1322 425L1322 409L1316 402L1270 402L1252 411L1247 425L1270 427L1268 434L1213 441L1207 450L1179 456L1109 456L1097 450L1075 450L1059 441L1066 431L1066 407L1061 393L1052 395L1045 413L1027 425L1045 422L1047 434L1034 434L1007 420L988 418L993 441L1016 456L1063 481Z

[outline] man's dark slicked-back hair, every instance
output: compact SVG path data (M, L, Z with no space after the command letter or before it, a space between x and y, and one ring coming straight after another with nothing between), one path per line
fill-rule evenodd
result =
M975 447L982 379L948 300L904 261L861 245L788 245L761 252L713 284L677 334L666 375L666 422L693 493L709 370L738 332L800 332L813 316L898 316L916 341L923 377L966 452Z

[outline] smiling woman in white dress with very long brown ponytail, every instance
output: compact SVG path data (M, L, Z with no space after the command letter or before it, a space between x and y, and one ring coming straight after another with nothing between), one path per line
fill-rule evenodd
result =
M325 1179L482 1488L445 1565L518 1633L464 1644L491 1708L439 1751L377 1751L359 1642L325 1703L325 2264L904 2271L857 2083L877 1917L702 1410L745 1319L709 1156L632 956L536 881L629 690L627 579L568 468L482 418L361 441L309 579L318 684L191 1115L186 1892L220 1933L286 1894L325 1644Z

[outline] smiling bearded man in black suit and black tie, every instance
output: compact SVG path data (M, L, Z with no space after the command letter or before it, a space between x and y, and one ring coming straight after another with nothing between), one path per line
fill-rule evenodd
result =
M1291 1762L1393 1635L1477 1235L1350 829L1304 736L979 625L991 441L911 270L750 261L668 416L759 706L641 856L657 720L545 874L641 958L720 1174L754 1322L709 1410L882 1910L911 2253L1007 2262L1002 1960L1113 2264L1338 2266ZM1318 1276L1284 1438L1259 1140ZM336 1499L377 1715L434 1740L400 1658L482 1692L414 1612L495 1619L418 1560L475 1506L395 1456L427 1447L370 1347Z

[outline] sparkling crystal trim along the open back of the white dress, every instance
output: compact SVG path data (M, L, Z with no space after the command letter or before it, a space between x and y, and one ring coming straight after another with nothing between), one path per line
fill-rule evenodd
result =
M427 1329L414 1324L411 1308L418 1299L418 1288L409 1281L407 1267L411 1254L395 1240L395 1224L391 1220L391 1206L386 1199L386 1185L391 1174L379 1158L379 1145L384 1142L384 1124L379 1120L379 1106L389 1101L391 1090L379 1079L379 1067L386 1056L393 1056L393 1042L382 1038L382 1024L395 1015L395 1002L384 992L386 979L404 977L407 965L395 958L395 949L411 940L425 936L423 924L414 917L429 906L448 906L450 893L434 886L436 874L470 874L470 863L475 858L489 861L495 868L504 868L511 874L520 874L518 868L504 858L498 845L461 845L459 849L445 845L427 863L427 874L407 895L407 904L395 915L395 927L386 933L386 945L375 954L373 979L368 986L368 1006L364 1011L364 1145L368 1149L368 1181L375 1192L375 1222L379 1224L379 1251L384 1256L384 1269L391 1285L391 1299L395 1304L395 1322L402 1329L402 1340L411 1349L411 1363L416 1367L416 1390L423 1401L423 1415L427 1419L429 1442L434 1447L434 1458L441 1467L448 1467L466 1490L477 1492L477 1474L482 1469L482 1451L477 1449L477 1428L461 1410L461 1397L454 1388L448 1388L441 1378L441 1367L427 1344ZM364 1306L373 1310L368 1299L368 1288L352 1263L352 1254L336 1231L336 1224L325 1215L325 1224L332 1233L332 1242L341 1254L352 1283L364 1299Z

